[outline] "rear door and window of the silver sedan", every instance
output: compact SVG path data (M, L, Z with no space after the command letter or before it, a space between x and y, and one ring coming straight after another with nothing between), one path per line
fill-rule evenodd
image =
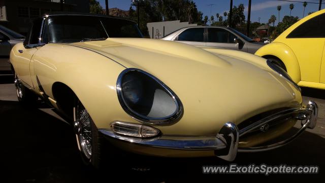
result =
M185 43L193 46L206 46L204 40L205 28L204 27L191 27L186 28L178 34L175 41Z

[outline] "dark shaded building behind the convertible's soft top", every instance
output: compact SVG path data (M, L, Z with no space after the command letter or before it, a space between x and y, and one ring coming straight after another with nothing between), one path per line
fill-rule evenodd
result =
M0 0L0 24L26 34L32 20L59 11L89 13L89 0Z

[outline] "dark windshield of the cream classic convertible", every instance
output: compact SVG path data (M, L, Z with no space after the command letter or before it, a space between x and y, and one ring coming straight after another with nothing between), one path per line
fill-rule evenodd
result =
M47 18L43 43L99 41L107 38L143 38L136 23L124 19L57 15Z

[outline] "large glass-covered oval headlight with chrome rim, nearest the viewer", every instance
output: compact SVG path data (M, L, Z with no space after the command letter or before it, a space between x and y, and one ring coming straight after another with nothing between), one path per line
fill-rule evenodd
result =
M143 70L123 70L117 79L116 89L124 111L141 122L172 123L183 114L182 103L176 94Z

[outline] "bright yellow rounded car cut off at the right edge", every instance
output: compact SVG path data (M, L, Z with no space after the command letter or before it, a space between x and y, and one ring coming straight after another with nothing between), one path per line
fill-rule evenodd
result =
M255 55L277 63L299 86L325 89L325 10L315 12Z

